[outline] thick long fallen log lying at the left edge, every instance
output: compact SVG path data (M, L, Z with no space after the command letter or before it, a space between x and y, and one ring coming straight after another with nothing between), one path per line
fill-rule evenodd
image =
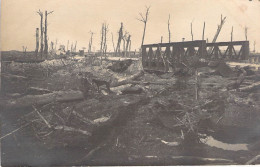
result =
M27 95L18 99L3 100L0 102L0 108L15 109L30 107L32 105L44 105L51 102L67 102L83 99L81 91L56 91L43 95Z

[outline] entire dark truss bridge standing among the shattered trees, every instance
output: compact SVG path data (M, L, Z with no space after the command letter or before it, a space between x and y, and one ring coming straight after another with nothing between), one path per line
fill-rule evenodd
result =
M205 40L198 40L142 46L142 64L145 70L167 72L170 66L192 57L206 60L246 60L249 57L249 41L206 43Z

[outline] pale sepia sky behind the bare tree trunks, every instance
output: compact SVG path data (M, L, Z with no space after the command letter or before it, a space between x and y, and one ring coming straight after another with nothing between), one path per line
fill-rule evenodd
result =
M191 40L190 24L194 40L202 39L205 21L205 39L212 41L221 14L226 23L217 41L230 41L233 26L233 41L245 40L248 27L250 50L260 52L260 1L259 0L1 0L1 50L35 50L35 29L40 26L36 13L54 11L48 16L50 41L67 45L77 41L77 49L88 47L90 31L94 32L93 49L100 48L102 23L108 24L108 51L113 50L121 22L124 31L131 34L132 50L140 48L143 23L139 13L150 6L144 44L168 42L168 17L170 18L171 41L185 38Z

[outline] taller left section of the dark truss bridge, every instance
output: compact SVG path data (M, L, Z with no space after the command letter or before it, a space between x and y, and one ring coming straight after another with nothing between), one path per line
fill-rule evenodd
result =
M143 45L143 68L167 72L169 66L174 66L186 57L194 55L206 56L205 49L205 40Z

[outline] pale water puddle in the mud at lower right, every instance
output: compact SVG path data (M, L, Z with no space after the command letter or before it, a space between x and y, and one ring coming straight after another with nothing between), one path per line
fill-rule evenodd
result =
M212 136L207 136L206 138L200 139L203 143L208 146L220 148L227 151L247 151L248 144L228 144L214 139Z

